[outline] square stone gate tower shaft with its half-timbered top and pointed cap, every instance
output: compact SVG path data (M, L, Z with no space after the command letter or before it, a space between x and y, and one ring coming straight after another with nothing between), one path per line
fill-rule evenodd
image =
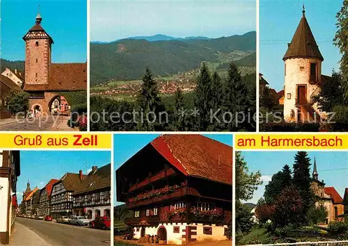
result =
M36 16L35 25L24 35L25 48L25 84L47 85L49 83L49 66L51 65L52 38L41 26L40 14Z

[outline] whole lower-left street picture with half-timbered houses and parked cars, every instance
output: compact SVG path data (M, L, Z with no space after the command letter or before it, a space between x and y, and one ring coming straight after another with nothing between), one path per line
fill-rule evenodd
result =
M70 157L57 163L55 158L63 155ZM102 165L90 167L87 163L96 160L90 156L99 156L97 163ZM0 205L1 218L5 218L1 220L1 245L108 245L111 237L109 151L3 150L0 157L1 170L12 170L8 176L0 177L0 187L5 188L0 196L6 201ZM84 158L86 162L81 163ZM51 172L35 175L37 170L44 169ZM39 179L46 181L38 182Z

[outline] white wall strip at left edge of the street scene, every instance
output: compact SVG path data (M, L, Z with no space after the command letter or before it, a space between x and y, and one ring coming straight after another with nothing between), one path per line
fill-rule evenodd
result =
M1 188L2 187L2 188ZM8 231L7 219L8 219L8 178L0 178L0 232Z

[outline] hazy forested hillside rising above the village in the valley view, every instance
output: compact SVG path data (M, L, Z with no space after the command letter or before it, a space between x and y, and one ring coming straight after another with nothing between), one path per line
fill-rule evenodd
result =
M145 67L166 76L195 69L203 61L226 63L232 51L255 51L255 31L214 39L118 40L90 44L90 83L141 79Z

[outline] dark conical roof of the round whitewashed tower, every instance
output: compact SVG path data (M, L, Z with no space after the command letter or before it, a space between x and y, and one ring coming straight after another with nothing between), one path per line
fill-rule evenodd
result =
M319 51L317 42L313 36L312 31L310 31L309 24L306 19L306 11L303 6L303 15L300 20L299 26L297 26L294 37L290 44L288 44L287 51L283 57L283 60L288 58L318 58L319 60L324 60L322 54Z

